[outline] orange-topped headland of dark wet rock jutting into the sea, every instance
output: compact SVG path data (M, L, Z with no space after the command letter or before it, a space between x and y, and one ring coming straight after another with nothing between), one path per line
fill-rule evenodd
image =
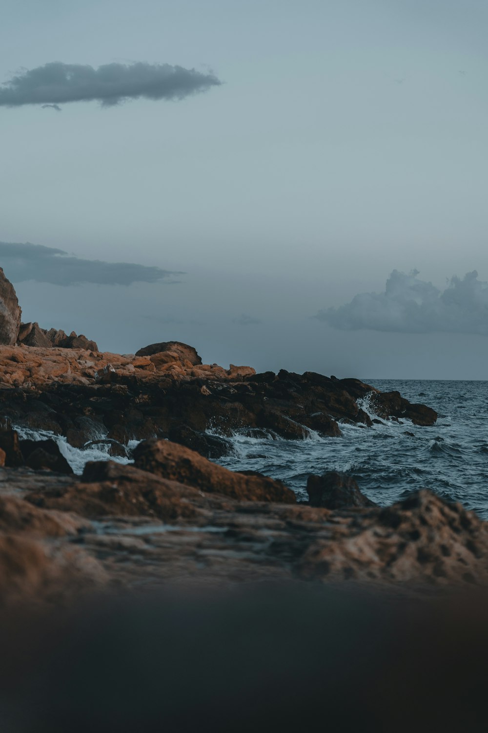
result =
M222 437L236 430L266 430L290 440L302 440L310 431L340 438L341 420L371 424L361 406L364 398L383 419L403 417L415 424L437 419L427 406L380 393L360 380L285 370L257 375L250 367L194 365L187 356L0 347L0 414L33 430L66 435L73 446L157 436L206 457L225 454ZM220 441L204 435L210 427Z

